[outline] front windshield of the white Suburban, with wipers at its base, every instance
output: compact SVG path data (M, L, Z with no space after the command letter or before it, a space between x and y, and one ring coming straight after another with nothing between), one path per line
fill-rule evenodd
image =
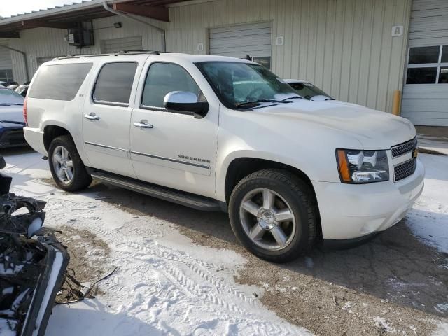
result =
M221 102L235 109L244 103L280 102L297 97L297 93L264 66L240 62L196 63ZM261 102L260 102L261 101Z

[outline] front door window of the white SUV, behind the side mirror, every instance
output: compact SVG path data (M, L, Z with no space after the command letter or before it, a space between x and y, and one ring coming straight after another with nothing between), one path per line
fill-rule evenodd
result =
M146 76L141 106L163 108L163 99L172 91L193 92L200 97L200 88L185 69L176 64L151 64Z

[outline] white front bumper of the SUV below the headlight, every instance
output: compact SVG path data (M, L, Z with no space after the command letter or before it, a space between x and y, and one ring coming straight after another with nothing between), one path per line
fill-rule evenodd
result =
M402 220L423 191L425 169L398 182L344 184L312 181L323 239L372 237Z

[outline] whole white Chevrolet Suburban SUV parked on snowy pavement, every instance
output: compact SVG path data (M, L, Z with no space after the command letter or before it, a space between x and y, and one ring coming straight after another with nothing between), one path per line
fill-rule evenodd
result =
M244 59L61 57L38 69L24 110L25 137L63 190L93 178L228 211L241 244L273 262L319 237L345 246L369 239L423 190L408 120L303 99Z

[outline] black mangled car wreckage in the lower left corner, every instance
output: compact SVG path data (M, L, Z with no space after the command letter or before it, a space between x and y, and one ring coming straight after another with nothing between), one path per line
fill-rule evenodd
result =
M42 228L45 202L9 193L10 183L0 174L0 334L42 336L69 255L54 232Z

